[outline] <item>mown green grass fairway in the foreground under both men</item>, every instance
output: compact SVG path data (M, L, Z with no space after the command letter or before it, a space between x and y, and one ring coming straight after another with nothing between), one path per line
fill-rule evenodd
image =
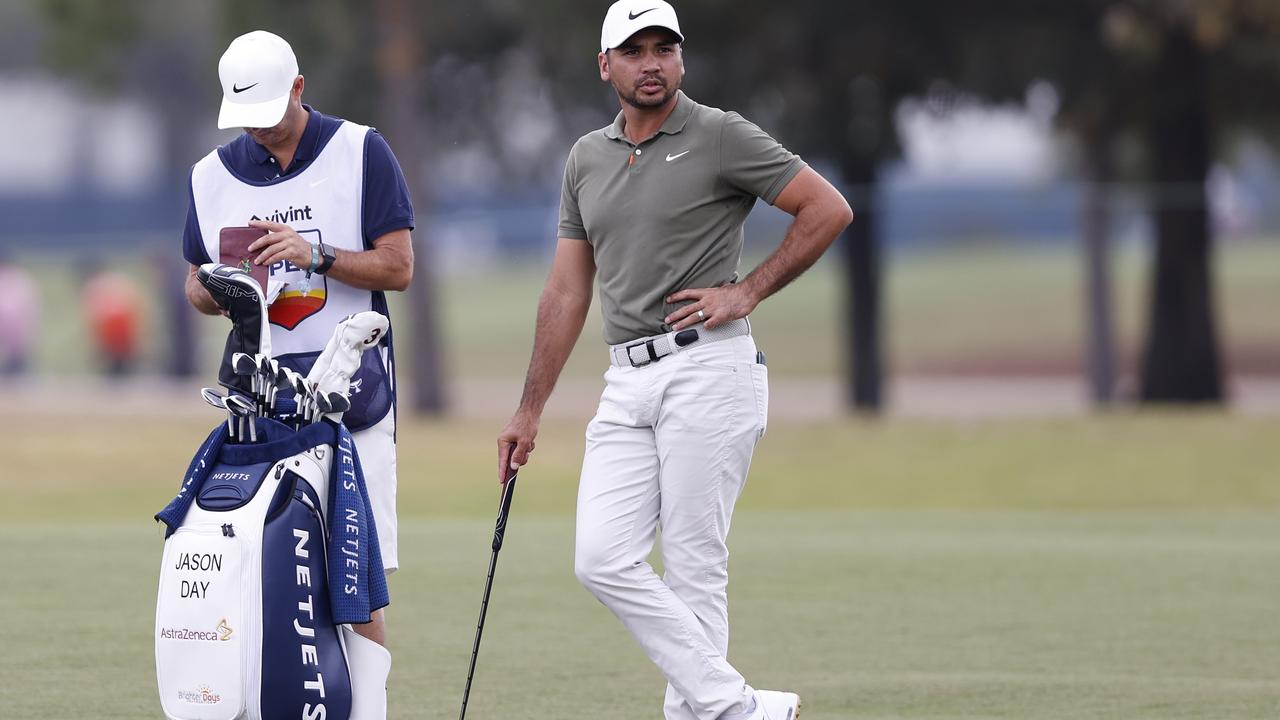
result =
M210 421L0 416L0 716L160 716L150 515ZM457 715L497 424L401 432L393 717ZM660 716L657 670L572 578L581 429L544 425L522 475L468 717ZM774 423L731 539L731 657L805 720L1276 717L1277 436L1221 414Z

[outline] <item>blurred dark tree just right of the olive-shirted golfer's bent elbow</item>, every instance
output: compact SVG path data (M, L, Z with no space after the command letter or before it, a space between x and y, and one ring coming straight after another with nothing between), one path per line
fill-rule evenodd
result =
M708 0L681 6L694 36L686 54L699 68L690 85L712 104L741 108L812 160L833 165L854 206L842 240L847 401L876 413L883 402L879 168L900 152L893 113L923 94L959 54L948 23L961 12L927 0L829 3ZM691 20L691 22L690 22ZM712 47L703 51L701 47ZM701 79L699 79L701 78Z

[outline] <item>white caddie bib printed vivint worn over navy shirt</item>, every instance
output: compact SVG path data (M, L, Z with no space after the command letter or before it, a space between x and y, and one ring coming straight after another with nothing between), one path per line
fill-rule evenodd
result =
M191 192L209 256L216 260L220 255L221 228L243 227L250 220L284 223L312 245L323 240L342 250L365 250L362 201L369 129L343 120L307 168L264 183L232 174L218 150L196 163ZM276 356L319 352L343 318L372 309L370 291L320 274L307 278L306 268L292 263L273 264L268 277L287 283L270 307Z

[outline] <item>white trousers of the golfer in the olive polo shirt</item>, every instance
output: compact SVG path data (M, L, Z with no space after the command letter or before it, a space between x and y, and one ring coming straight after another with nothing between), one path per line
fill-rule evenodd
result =
M575 571L667 676L668 720L750 705L728 652L733 503L764 434L768 374L741 336L611 366L586 429ZM662 528L662 578L646 561Z

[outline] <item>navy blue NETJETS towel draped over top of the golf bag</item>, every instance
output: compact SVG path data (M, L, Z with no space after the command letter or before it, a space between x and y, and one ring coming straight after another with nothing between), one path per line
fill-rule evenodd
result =
M269 419L257 419L264 442L228 445L225 423L220 423L191 459L182 488L155 519L165 524L165 538L182 527L205 480L219 466L244 466L275 462L317 445L335 451L329 477L329 602L335 624L369 623L370 615L390 605L383 553L378 544L365 474L351 432L344 425L324 421L293 428Z

